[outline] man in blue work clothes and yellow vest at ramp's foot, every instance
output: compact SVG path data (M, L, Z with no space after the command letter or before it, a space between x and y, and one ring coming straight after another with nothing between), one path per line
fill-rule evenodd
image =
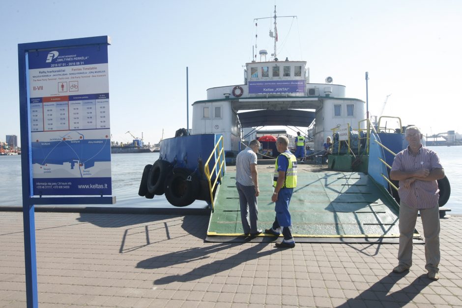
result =
M276 158L274 165L274 193L271 197L271 201L276 203L274 207L276 218L274 219L273 226L265 230L265 233L279 236L282 229L284 239L281 243L276 243L276 247L278 248L295 247L295 241L290 231L292 223L290 220L289 203L293 189L297 186L297 159L290 153L288 145L289 139L286 136L280 136L276 140L276 147L278 152L281 153Z

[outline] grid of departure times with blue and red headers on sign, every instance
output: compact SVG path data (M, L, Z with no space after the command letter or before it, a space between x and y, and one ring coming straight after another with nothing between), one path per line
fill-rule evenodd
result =
M30 99L31 131L109 128L109 93Z

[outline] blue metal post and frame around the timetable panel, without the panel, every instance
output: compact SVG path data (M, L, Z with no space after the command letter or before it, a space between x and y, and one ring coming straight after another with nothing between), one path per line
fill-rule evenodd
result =
M55 48L111 45L108 36L18 44L19 111L21 124L21 171L23 192L24 255L26 267L27 307L38 307L37 264L35 249L34 205L115 204L115 196L100 197L41 197L34 196L31 186L32 149L29 127L29 84L27 55L29 52Z

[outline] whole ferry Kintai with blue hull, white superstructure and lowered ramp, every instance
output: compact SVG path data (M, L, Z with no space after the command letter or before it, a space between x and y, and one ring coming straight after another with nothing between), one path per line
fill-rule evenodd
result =
M182 128L174 138L162 140L159 159L144 168L139 195L153 198L165 193L175 206L205 200L212 212L207 239L236 240L244 234L235 176L227 172L227 165L256 138L259 128L303 127L315 153L323 149L328 136L334 144L327 166L318 159L315 172L298 165L298 185L290 203L296 212L294 236L299 241L397 241L399 205L393 192L397 187L388 173L394 158L390 153L407 146L401 120L397 118L397 128L382 128L380 119L378 123L364 119L365 102L346 97L345 85L335 84L332 77L311 82L306 61L284 56L280 60L276 6L271 18L274 51L268 55L260 50L245 64L243 83L209 88L205 100L192 104L191 134ZM272 203L272 169L266 169L259 172L260 181L267 183L260 185L259 223L269 226L274 209L260 207ZM449 198L447 179L440 189L444 190L441 205Z

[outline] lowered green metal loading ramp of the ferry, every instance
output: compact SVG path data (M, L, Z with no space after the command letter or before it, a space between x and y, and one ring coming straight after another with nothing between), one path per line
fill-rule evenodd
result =
M368 175L352 172L298 172L290 201L292 235L296 242L398 243L398 205ZM274 221L272 173L259 172L258 227ZM281 235L282 236L282 235ZM220 185L210 216L207 241L273 241L276 237L243 234L235 173ZM421 242L414 231L414 242Z

